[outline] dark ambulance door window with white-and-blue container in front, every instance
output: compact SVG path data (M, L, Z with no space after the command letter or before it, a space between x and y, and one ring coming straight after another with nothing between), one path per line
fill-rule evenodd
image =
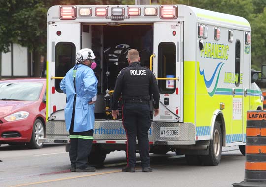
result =
M173 42L162 42L158 46L158 77L174 78L176 75L176 46ZM160 93L172 94L175 80L158 80Z

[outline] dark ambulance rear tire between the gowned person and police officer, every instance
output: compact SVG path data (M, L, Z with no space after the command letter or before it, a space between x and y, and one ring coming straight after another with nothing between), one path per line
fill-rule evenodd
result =
M104 150L101 150L98 146L91 151L88 156L88 164L93 166L103 166L103 162L106 158L107 153Z

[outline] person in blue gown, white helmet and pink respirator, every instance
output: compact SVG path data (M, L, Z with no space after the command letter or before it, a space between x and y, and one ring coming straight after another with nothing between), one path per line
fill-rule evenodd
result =
M93 141L94 103L97 95L97 79L92 68L96 67L91 49L81 49L76 54L77 64L60 82L66 94L66 130L70 134L71 171L92 172L87 165Z

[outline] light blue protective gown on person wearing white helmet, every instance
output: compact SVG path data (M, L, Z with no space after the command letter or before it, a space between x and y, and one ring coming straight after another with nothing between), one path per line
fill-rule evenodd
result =
M76 97L74 132L88 131L94 128L94 104L88 104L97 94L97 78L93 70L83 64L79 64L76 70L76 90L73 82L73 70L70 69L60 82L60 89L66 94L65 107L66 130L70 130L74 96Z

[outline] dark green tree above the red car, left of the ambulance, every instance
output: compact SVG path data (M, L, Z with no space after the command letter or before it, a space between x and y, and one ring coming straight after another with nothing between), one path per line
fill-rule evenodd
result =
M7 52L11 43L28 47L34 62L46 53L47 5L43 0L0 1L0 51ZM35 63L36 64L36 63ZM39 67L35 65L35 76Z

